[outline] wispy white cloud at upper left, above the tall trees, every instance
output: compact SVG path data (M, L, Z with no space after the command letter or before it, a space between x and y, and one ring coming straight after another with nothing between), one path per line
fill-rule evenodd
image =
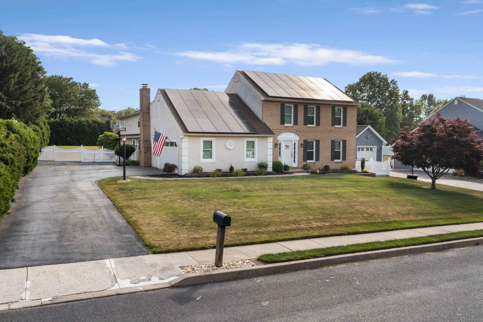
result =
M97 47L99 50L112 51L119 48L127 48L125 44L107 44L97 38L80 39L71 36L52 36L33 33L23 33L18 38L24 40L36 54L68 61L85 60L95 65L113 66L117 61L136 61L142 59L142 57L124 51L118 51L114 54L100 54L79 49L80 47Z

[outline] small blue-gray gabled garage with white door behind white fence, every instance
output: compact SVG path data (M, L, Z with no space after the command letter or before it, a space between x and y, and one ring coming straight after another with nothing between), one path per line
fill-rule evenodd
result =
M356 159L365 158L374 161L383 161L383 146L386 140L370 125L357 125L355 136Z

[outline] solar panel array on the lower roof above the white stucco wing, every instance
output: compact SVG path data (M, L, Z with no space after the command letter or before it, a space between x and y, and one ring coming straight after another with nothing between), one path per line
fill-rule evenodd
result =
M258 132L225 92L165 90L189 132Z

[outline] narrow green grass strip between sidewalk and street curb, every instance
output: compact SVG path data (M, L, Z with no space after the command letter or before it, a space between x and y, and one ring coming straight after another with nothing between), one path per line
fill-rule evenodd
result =
M376 241L361 244L351 244L345 246L332 246L326 248L314 248L306 250L284 251L275 254L263 254L257 257L257 260L266 263L283 263L291 261L299 261L311 258L320 258L334 255L343 255L350 253L359 253L363 251L391 249L407 246L416 246L424 244L440 243L451 240L475 238L483 236L483 229L472 230L466 232L456 232L449 234L436 234L421 237L392 239L386 241Z

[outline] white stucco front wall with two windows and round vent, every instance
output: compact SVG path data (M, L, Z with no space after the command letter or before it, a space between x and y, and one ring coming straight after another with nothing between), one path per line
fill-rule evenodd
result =
M230 164L235 169L247 168L249 171L256 170L256 163L261 160L269 161L269 171L271 171L272 137L267 136L198 136L186 135L188 138L188 172L193 172L195 165L201 165L203 172L211 172L215 169L228 171ZM201 140L214 139L214 162L201 161ZM256 140L256 161L245 161L245 139ZM235 146L232 149L227 148L227 141L233 140ZM270 148L269 148L270 146Z

